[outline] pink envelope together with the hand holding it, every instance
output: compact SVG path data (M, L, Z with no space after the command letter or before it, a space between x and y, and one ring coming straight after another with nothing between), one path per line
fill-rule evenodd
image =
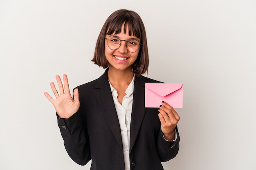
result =
M145 107L159 108L158 116L161 121L161 131L168 141L176 140L175 127L180 116L173 108L182 108L182 103L183 84L145 84Z

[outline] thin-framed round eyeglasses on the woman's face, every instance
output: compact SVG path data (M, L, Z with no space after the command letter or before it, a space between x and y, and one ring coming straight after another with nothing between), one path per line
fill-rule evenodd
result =
M121 46L121 41L126 41L126 40L120 40L117 37L109 37L105 39L108 40L107 42L108 48L110 48L111 50L119 49L119 47ZM139 43L138 40L132 39L132 40L126 41L126 48L131 53L138 51L140 46L141 46L141 43Z

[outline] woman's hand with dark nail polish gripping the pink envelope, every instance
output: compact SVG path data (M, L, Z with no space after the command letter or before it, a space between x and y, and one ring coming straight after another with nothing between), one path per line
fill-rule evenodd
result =
M175 139L175 127L180 120L180 116L174 110L172 106L166 102L162 102L159 107L158 117L161 121L161 130L164 134L165 139L172 141Z

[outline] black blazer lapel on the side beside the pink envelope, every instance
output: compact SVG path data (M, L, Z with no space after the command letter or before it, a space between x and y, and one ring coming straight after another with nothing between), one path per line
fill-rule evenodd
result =
M141 123L146 113L145 103L145 82L142 76L135 77L133 102L132 102L132 115L130 126L130 151L136 141Z

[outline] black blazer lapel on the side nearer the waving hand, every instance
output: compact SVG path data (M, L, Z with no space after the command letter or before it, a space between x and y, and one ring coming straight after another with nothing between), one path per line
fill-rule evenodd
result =
M123 149L122 138L121 138L121 130L118 121L117 111L115 109L115 104L113 101L112 93L110 90L110 85L108 82L108 68L105 73L99 77L96 86L96 89L99 89L97 93L97 100L103 113L108 121L108 124L117 139L119 146Z

